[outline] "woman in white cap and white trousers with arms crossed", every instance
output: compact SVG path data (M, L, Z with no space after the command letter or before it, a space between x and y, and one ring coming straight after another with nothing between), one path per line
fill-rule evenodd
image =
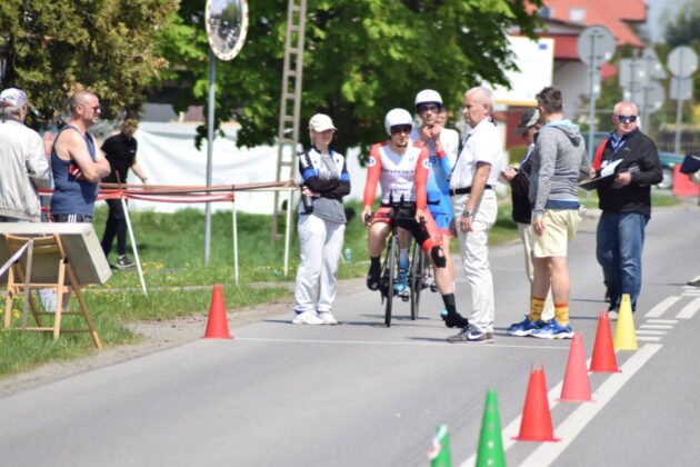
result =
M347 222L342 197L350 193L350 176L346 158L330 148L337 131L331 118L314 115L309 131L312 148L299 156L303 180L297 226L301 259L292 324L337 325L331 308Z

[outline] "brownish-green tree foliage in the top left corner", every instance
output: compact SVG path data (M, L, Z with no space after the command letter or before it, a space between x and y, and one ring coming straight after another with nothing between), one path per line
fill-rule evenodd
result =
M68 93L93 90L103 117L137 111L166 60L156 38L178 0L2 0L0 83L29 95L34 125L54 120Z

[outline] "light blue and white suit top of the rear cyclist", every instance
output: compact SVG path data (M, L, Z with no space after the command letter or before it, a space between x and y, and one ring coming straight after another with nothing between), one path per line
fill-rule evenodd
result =
M420 128L414 128L411 131L411 140L418 142L420 139ZM434 145L429 141L426 146L428 148L430 168L428 171L428 209L433 215L448 215L452 218L452 203L450 202L450 182L448 176L452 171L452 166L457 159L459 150L459 133L449 128L443 128L440 131L440 142L442 143L443 152L438 153ZM448 222L449 223L449 222Z

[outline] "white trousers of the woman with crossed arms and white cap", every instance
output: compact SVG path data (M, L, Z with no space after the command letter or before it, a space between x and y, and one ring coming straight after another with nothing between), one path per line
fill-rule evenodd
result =
M330 311L336 299L336 276L346 225L314 215L300 215L297 230L301 261L294 282L294 311Z

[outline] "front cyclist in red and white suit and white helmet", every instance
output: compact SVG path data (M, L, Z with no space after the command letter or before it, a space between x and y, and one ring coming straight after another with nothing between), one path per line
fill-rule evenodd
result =
M467 321L457 312L454 285L446 267L447 258L442 250L441 237L427 209L426 187L430 162L428 149L411 141L413 118L404 109L390 110L384 118L384 128L389 139L372 146L364 186L362 219L366 226L370 226L368 249L371 261L367 287L370 290L379 289L380 257L391 230L391 201L402 200L399 216L393 220L413 235L430 258L436 271L436 285L449 316ZM371 216L378 182L381 186L381 207ZM408 211L408 215L402 211Z

